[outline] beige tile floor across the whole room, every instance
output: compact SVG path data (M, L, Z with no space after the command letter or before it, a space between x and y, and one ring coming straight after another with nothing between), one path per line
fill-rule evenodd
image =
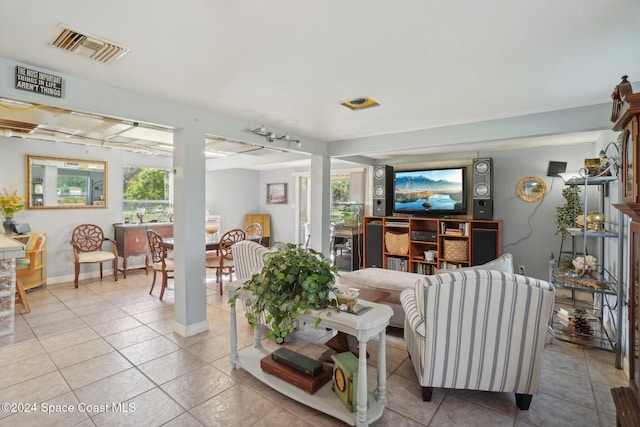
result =
M0 337L0 400L25 405L0 411L0 427L344 425L231 369L229 307L215 280L207 285L209 331L182 338L172 332L173 291L163 302L157 287L150 296L151 278L136 272L29 292L31 313L17 314L15 334ZM238 316L240 345L250 345L251 328ZM303 330L287 345L317 357L330 335ZM387 339L388 405L377 426L614 426L609 389L627 385L613 353L556 340L528 411L508 393L436 389L422 402L401 331ZM101 407L115 402L117 412Z

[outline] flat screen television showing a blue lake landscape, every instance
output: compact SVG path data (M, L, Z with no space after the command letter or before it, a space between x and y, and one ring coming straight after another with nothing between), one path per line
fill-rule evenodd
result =
M467 214L467 168L394 171L394 213L420 216Z

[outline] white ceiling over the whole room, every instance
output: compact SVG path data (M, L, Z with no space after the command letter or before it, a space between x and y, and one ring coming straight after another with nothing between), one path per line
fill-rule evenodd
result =
M151 0L34 0L1 2L0 14L10 17L0 26L0 57L343 149L363 138L604 104L622 74L640 80L637 0L194 0L162 7ZM105 64L54 48L49 42L59 24L129 51ZM360 97L380 105L360 111L341 105ZM43 131L71 133L68 142L149 150L170 134L135 118L16 111L0 108L0 117L49 123ZM594 130L568 126L560 136L489 136L457 146L425 139L353 154L392 159L592 142L600 134ZM212 135L208 147L281 159L266 143L265 149L227 139Z

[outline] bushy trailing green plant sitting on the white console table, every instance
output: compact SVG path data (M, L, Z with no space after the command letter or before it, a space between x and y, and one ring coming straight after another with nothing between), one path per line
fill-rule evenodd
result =
M253 295L245 301L245 316L254 328L263 318L267 337L281 344L295 329L301 313L338 309L336 299L330 298L337 272L324 254L288 243L281 251L268 254L260 272L240 287ZM237 298L236 292L229 303Z

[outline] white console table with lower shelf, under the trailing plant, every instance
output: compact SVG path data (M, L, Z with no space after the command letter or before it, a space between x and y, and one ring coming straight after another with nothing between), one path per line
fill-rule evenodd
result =
M229 283L226 286L229 295L234 295L242 283ZM240 291L239 299L246 300L251 296L246 291ZM240 351L237 348L236 306L231 305L231 366L241 367L264 384L279 391L304 405L314 408L332 417L338 418L350 425L368 426L378 420L387 404L387 359L386 359L386 327L393 315L391 307L368 301L359 304L370 306L371 309L360 314L335 312L333 310L312 310L309 314L300 315L301 324L315 325L316 319L322 319L319 327L332 328L355 336L359 342L360 355L358 357L358 408L357 412L349 412L340 398L331 389L332 382L325 384L313 395L273 375L267 374L260 368L260 359L270 354L260 342L260 328L254 332L254 345ZM378 387L376 393L367 390L367 342L378 337Z

